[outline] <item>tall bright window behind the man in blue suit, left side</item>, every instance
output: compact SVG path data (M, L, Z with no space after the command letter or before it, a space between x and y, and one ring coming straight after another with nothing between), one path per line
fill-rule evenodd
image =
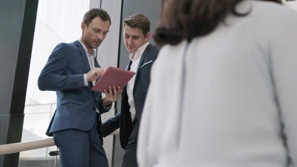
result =
M48 138L45 132L56 108L56 93L40 91L38 77L58 43L80 38L81 21L88 9L89 0L39 0L21 142ZM54 167L55 157L48 153L56 149L52 146L20 152L19 167Z

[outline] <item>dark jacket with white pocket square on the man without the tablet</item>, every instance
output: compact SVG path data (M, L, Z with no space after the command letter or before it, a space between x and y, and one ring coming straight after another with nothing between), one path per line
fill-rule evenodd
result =
M133 99L138 124L141 121L142 110L145 104L148 86L150 83L151 65L154 63L157 55L157 48L151 44L148 44L141 56L135 74L136 76L133 88ZM130 61L130 63L127 65L127 70L130 70L131 63L132 62ZM130 105L128 104L127 86L125 86L122 93L121 112L117 113L113 118L110 118L105 123L103 123L104 137L120 127L120 141L123 148L126 147L130 134L133 130L129 108Z

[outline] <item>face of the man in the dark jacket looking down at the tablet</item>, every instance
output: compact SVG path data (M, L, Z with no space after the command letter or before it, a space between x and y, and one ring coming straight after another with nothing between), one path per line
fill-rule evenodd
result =
M131 28L127 25L124 27L125 46L129 53L135 54L136 50L148 42L150 33L143 34L140 28Z

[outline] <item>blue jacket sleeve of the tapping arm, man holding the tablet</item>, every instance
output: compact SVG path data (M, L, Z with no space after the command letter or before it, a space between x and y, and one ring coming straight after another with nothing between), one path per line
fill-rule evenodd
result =
M85 86L84 74L64 75L67 67L67 45L58 44L48 58L38 78L40 90L62 91Z

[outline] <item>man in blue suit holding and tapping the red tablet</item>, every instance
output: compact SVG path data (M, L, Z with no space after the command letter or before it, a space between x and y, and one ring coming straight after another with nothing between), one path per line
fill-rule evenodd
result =
M100 114L117 101L121 88L111 85L104 99L91 88L104 73L94 49L105 39L110 24L105 10L86 12L80 40L58 44L39 76L40 90L57 93L57 109L46 134L54 137L61 167L108 167Z

